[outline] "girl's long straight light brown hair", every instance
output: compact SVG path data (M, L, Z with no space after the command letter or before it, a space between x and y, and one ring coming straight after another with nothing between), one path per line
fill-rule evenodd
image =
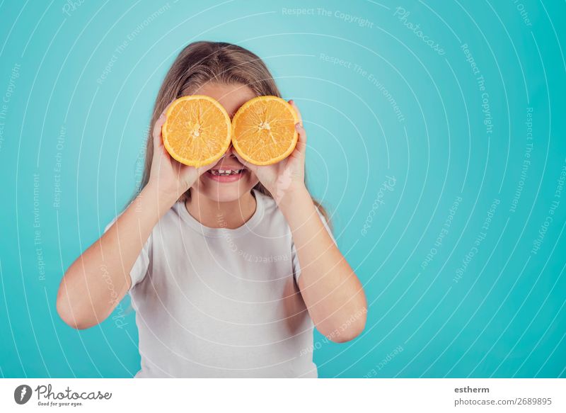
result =
M157 94L154 113L151 115L151 124L149 125L144 175L139 186L140 190L149 181L151 159L154 156L151 131L154 129L159 116L167 105L176 98L192 94L209 81L220 84L244 84L252 89L256 96L281 97L269 69L260 57L253 52L231 43L205 41L190 43L179 53L175 62L171 65ZM261 183L258 183L254 188L273 198L270 191L267 191ZM180 197L180 200L186 200L189 197L190 189ZM315 199L313 199L313 203L330 224L328 213L323 206Z

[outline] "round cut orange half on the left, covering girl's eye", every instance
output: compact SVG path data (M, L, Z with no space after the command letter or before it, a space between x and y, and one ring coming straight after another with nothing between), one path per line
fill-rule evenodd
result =
M198 168L212 164L228 150L230 116L209 96L183 96L167 109L161 134L163 145L173 159Z

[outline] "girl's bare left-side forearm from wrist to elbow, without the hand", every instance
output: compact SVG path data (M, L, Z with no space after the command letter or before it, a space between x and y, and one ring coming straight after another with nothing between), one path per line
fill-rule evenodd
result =
M88 328L112 313L131 285L129 271L141 248L173 202L160 198L154 186L146 186L69 267L57 295L57 311L67 324Z

